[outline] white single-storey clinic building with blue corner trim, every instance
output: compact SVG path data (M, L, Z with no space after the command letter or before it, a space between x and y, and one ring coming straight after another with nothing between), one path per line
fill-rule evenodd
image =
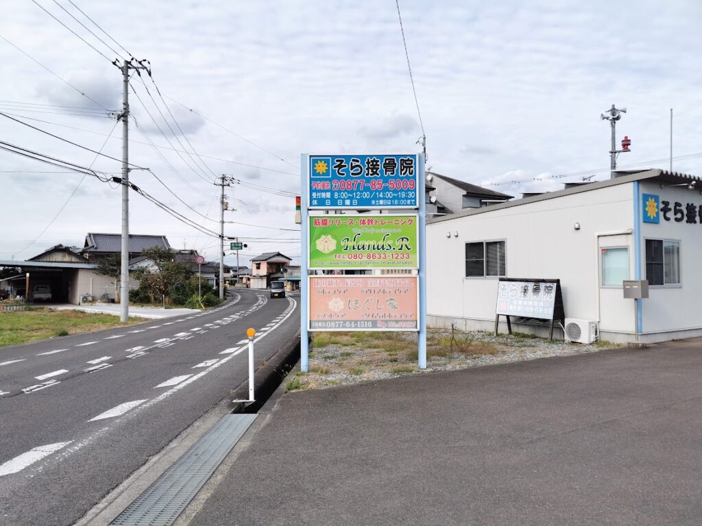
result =
M701 336L702 180L616 176L431 220L428 324L492 330L505 276L559 279L565 316L597 321L602 339ZM647 279L649 297L624 299L629 279ZM545 334L527 321L515 329Z

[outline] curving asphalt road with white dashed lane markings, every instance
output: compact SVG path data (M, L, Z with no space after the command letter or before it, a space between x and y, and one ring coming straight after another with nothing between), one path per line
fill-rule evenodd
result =
M299 328L296 297L0 349L0 525L69 525Z

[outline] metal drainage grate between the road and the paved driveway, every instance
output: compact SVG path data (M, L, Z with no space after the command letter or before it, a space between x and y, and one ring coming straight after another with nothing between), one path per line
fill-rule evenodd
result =
M110 524L167 526L225 459L256 414L227 414Z

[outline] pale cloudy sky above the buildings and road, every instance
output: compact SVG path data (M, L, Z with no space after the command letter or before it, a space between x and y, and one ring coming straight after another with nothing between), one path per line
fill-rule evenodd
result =
M609 177L611 104L627 108L618 144L632 140L618 166L667 169L672 108L673 170L702 175L696 0L399 0L417 101L395 0L2 4L0 112L24 124L0 115L0 141L119 176L110 62L125 50L149 60L152 78L131 79L128 151L150 170L130 180L210 231L216 177L238 180L225 236L249 245L241 265L273 251L298 261L300 154L413 153L422 124L427 168L519 197ZM0 149L0 188L0 260L121 231L114 182ZM130 225L218 259L218 238L133 191Z

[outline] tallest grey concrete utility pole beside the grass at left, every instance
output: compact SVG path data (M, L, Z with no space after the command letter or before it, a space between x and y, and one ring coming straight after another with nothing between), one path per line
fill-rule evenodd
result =
M117 120L122 121L122 236L121 236L121 267L119 282L119 321L129 319L129 70L147 69L143 60L134 58L112 62L122 72L122 112ZM148 69L147 69L148 71Z

